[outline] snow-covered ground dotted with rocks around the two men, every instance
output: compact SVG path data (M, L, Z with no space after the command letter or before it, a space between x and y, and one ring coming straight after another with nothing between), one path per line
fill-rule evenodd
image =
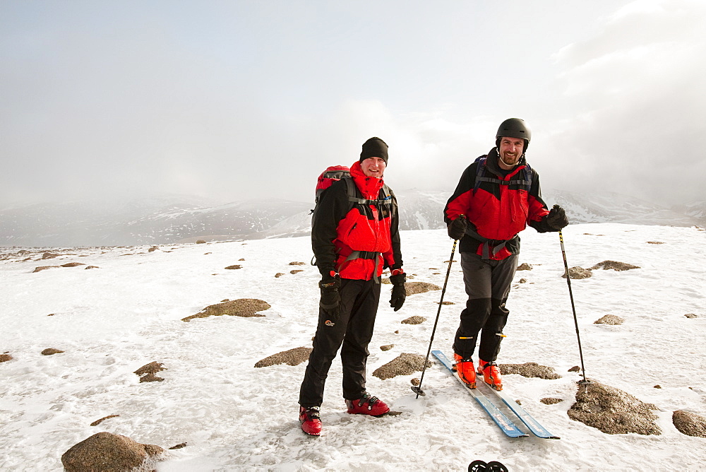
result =
M307 237L179 244L153 252L146 246L82 248L42 261L34 250L29 261L22 261L27 255L0 260L0 354L13 357L0 363L0 470L61 471L61 454L100 431L164 448L186 442L169 451L160 472L463 471L474 459L501 461L510 471L703 469L706 439L678 432L671 415L706 415L706 232L584 224L566 228L564 240L569 266L605 260L640 266L594 270L592 278L571 285L588 377L657 405L662 435L606 435L568 418L580 379L568 370L580 361L556 233L522 234L520 263L533 269L515 277L498 362L538 362L563 376L505 376L506 390L560 440L504 437L438 364L427 370L426 396L419 399L409 389L419 372L373 377L401 353L426 355L441 296L411 295L395 313L388 306L390 285L383 286L367 387L402 414L347 415L336 360L322 407L323 435L303 435L297 396L306 362L254 365L311 346L318 272L308 265ZM656 242L662 244L651 244ZM417 274L414 281L443 285L451 247L444 230L403 232L407 273ZM290 266L292 261L307 265ZM98 268L32 273L70 262ZM242 269L224 269L233 264ZM265 317L181 321L238 298L272 307ZM465 302L457 262L445 300L455 305L443 305L433 347L450 354ZM684 316L689 313L698 317ZM605 314L626 321L594 324ZM427 321L400 324L412 315ZM395 347L380 349L389 344ZM45 348L64 353L42 355ZM133 372L152 361L167 367L158 373L164 382L139 383ZM539 401L545 397L564 401L545 405ZM118 416L90 426L107 415Z

